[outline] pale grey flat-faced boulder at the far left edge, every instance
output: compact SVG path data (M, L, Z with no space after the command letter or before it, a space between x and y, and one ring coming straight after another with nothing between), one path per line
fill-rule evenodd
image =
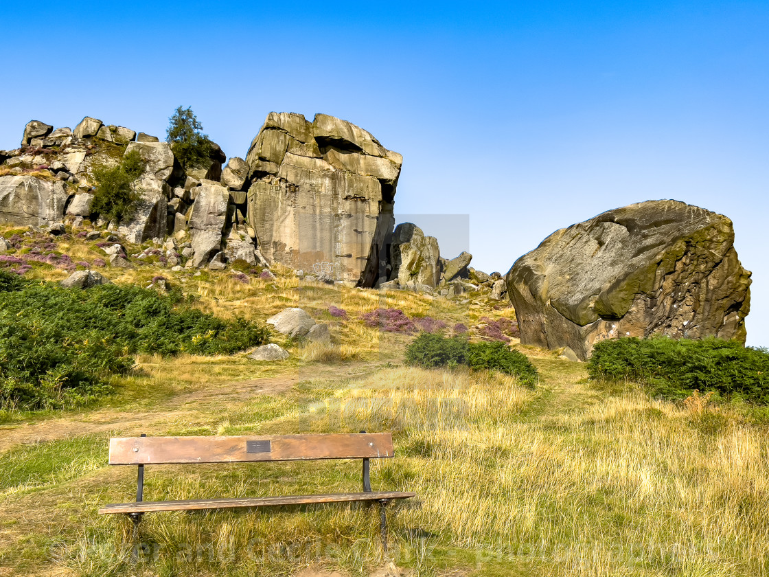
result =
M0 176L0 225L48 227L62 222L64 183L28 175Z

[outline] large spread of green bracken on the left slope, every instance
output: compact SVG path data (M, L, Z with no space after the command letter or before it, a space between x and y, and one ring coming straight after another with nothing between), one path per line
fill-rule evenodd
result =
M265 342L260 325L225 321L135 286L87 290L0 271L0 405L80 405L125 375L136 353L230 354Z

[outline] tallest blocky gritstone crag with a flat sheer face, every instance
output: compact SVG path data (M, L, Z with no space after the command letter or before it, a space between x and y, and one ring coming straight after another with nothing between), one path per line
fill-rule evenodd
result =
M332 116L271 112L246 162L248 224L270 264L375 285L401 155Z

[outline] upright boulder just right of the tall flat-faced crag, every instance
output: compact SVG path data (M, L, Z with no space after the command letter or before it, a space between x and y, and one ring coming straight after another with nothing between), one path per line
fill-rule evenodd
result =
M438 240L425 236L417 225L404 222L392 234L389 280L397 280L401 287L415 282L435 288L441 275L440 258Z

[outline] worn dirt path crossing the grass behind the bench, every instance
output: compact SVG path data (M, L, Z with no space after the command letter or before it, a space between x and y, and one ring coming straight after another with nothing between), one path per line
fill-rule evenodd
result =
M314 365L286 375L182 392L156 402L151 409L143 412L109 407L35 423L4 425L0 426L0 454L15 445L68 439L73 436L110 431L120 435L138 435L142 431L167 427L169 422L192 420L196 416L205 418L210 414L213 405L245 402L257 395L278 395L308 379L359 379L371 374L380 364L358 362L354 366Z

